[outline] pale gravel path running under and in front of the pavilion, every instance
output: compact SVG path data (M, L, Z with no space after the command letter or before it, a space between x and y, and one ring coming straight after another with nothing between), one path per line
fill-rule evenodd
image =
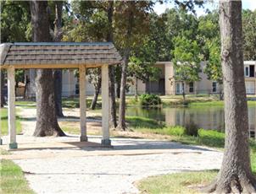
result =
M22 111L22 116L28 116ZM30 116L33 116L31 113ZM30 117L28 116L28 117ZM33 124L31 124L33 123ZM32 121L22 121L29 132L18 143L74 142L79 137L30 137ZM100 142L100 137L89 137ZM138 193L134 182L150 175L189 170L219 169L222 153L167 141L113 138L114 148L45 148L14 151L14 155L52 154L53 157L14 159L25 171L36 193Z

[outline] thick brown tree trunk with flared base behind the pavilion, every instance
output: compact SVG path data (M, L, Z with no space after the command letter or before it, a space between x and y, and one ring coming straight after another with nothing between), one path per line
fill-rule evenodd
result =
M31 22L35 42L51 41L47 2L31 1ZM53 87L53 70L36 72L36 129L34 136L64 136L58 126Z

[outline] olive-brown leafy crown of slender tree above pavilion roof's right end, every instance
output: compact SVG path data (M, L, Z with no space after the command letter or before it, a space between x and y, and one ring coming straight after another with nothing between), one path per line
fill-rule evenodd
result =
M149 30L152 1L117 1L114 3L114 42L120 51L142 45Z

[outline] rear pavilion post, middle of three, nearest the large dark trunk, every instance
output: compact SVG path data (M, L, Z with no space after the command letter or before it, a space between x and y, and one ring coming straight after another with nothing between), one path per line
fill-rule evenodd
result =
M81 142L87 141L86 136L86 67L81 65L79 68L79 94L80 94L80 129Z

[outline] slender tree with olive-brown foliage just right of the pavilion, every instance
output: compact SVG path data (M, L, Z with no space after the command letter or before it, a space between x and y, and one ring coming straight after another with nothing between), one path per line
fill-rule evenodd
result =
M148 14L153 3L147 1L118 2L115 7L114 40L123 55L120 84L120 110L118 128L125 130L125 88L127 66L133 46L142 44L142 36L147 34Z

